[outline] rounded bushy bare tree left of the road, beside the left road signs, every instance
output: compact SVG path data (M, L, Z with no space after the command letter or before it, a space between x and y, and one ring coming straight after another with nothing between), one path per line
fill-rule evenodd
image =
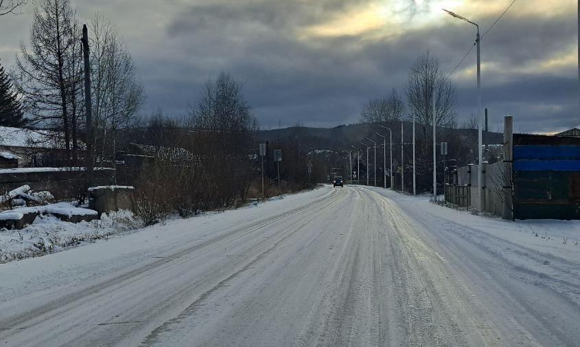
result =
M194 150L203 153L202 199L218 206L245 199L253 175L257 121L242 85L224 73L209 80L191 115L198 141ZM224 175L217 179L216 172Z

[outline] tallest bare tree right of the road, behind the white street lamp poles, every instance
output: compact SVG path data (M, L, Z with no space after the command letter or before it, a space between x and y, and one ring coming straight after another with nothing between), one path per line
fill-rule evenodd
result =
M435 100L435 124L455 126L455 88L441 76L437 58L426 53L417 59L408 76L406 95L409 112L422 124L425 140L427 128L433 124L432 98Z

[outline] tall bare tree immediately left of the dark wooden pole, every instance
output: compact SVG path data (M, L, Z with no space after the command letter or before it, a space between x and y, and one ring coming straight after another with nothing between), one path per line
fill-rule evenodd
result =
M82 70L76 12L69 0L43 0L34 8L30 49L16 58L16 87L31 125L62 132L67 157L74 157Z

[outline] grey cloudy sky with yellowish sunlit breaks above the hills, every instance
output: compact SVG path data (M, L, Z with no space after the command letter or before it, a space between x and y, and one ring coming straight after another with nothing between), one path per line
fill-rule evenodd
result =
M360 119L369 98L404 93L425 52L448 74L512 0L76 0L82 21L100 10L124 35L148 101L184 115L208 78L227 71L263 128L336 126ZM32 5L0 17L0 59L27 43ZM492 129L513 115L517 131L579 126L577 3L517 0L483 39L483 104ZM476 111L475 49L452 75L459 123Z

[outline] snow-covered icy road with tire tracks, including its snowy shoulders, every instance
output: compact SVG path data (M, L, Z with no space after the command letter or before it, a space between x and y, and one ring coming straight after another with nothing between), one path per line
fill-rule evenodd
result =
M0 265L0 345L579 346L577 253L408 199L325 187Z

